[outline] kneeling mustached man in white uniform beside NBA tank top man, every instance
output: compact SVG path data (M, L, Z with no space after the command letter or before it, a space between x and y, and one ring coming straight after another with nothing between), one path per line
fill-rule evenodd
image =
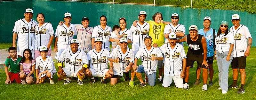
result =
M187 65L187 56L183 46L176 43L176 33L171 32L168 37L169 43L161 46L164 53L164 82L163 87L169 87L172 80L177 88L183 88L183 79Z

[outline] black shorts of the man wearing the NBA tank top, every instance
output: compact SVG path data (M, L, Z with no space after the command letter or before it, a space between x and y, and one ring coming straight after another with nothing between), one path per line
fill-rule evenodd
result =
M204 55L201 54L193 54L188 52L187 53L187 67L190 66L190 68L193 67L194 62L197 62L197 65L200 65L198 67L206 68L205 66L202 66L202 63L204 61Z

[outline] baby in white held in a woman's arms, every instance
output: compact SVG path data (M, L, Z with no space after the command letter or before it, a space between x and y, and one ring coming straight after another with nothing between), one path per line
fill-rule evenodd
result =
M110 34L110 38L119 39L119 38L123 37L124 33L122 35L119 35L120 29L121 28L118 25L113 26L113 28L112 28L113 31ZM116 48L116 45L117 45L116 41L112 42L112 50Z

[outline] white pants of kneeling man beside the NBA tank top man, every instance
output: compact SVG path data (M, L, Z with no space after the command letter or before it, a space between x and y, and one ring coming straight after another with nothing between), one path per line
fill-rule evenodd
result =
M175 83L175 86L177 88L183 88L184 87L184 84L183 84L183 79L180 78L180 75L176 75L176 76L170 76L170 75L167 75L164 73L164 81L163 81L163 86L164 87L168 87L171 85L172 83L172 79Z

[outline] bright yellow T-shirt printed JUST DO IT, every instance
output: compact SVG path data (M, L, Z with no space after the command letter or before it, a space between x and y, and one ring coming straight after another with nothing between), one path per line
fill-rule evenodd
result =
M149 36L152 37L152 45L157 44L158 47L161 47L164 44L164 23L156 23L155 21L146 21L149 23Z

